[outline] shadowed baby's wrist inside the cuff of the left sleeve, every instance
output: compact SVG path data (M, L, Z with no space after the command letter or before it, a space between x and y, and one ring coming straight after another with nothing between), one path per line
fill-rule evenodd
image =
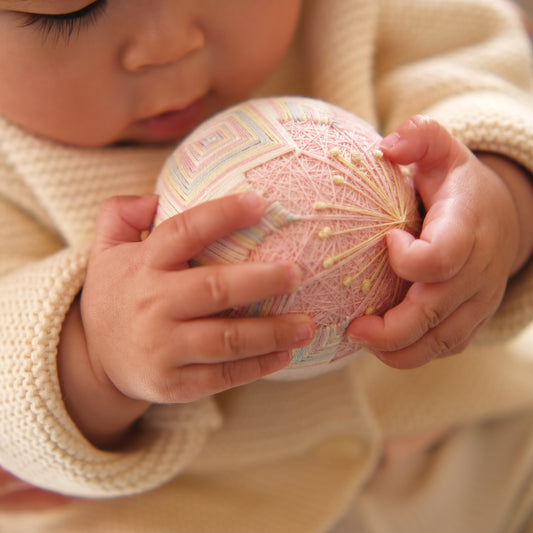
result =
M150 404L128 398L110 381L97 378L87 351L79 298L63 324L57 366L65 407L84 437L99 448L124 445Z

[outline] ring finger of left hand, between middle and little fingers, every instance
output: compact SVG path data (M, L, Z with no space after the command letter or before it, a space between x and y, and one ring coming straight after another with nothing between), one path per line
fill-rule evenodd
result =
M207 318L178 325L170 341L179 346L180 365L211 364L301 348L311 341L314 332L311 319L296 313L275 317ZM169 357L167 366L175 367L172 354Z

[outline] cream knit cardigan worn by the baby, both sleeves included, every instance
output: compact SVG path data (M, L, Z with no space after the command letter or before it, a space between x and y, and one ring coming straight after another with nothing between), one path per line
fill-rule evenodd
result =
M323 98L383 133L427 113L471 149L533 171L530 63L503 0L308 0L294 46L261 95ZM294 519L291 533L321 531L376 468L385 439L533 409L533 370L503 353L472 349L404 372L364 356L310 381L261 381L153 407L128 450L95 449L61 399L58 337L101 202L151 191L167 152L69 148L0 119L3 468L88 497L142 493L179 476L183 524L189 511L216 509L206 531L251 531L235 517L223 525L242 504L262 521L254 531L285 531L283 516ZM481 338L508 338L532 318L528 267Z

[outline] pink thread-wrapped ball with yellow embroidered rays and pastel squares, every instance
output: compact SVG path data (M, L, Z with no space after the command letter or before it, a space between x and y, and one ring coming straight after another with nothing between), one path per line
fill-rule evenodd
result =
M300 97L255 99L201 124L169 157L157 182L156 224L200 202L259 191L269 207L259 224L209 246L194 265L290 260L303 286L228 311L231 316L305 312L316 336L293 351L278 377L321 373L354 356L351 320L382 314L408 288L391 270L385 234L416 233L409 177L377 148L381 137L351 113Z

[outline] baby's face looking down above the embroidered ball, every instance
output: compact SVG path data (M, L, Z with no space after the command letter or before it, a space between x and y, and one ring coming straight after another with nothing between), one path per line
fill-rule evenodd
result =
M0 114L78 146L168 143L250 96L301 0L0 0Z

